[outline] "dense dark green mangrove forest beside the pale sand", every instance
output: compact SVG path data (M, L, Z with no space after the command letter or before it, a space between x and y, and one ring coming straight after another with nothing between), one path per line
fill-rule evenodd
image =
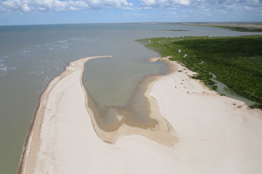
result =
M215 82L209 72L214 73L217 80L236 94L257 102L253 107L262 108L262 35L162 37L136 41L162 57L171 55L171 60L197 72L192 78L202 80L213 89Z

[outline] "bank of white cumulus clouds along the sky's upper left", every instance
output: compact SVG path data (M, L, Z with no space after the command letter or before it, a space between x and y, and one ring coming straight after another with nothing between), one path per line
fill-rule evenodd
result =
M72 11L84 9L127 8L126 0L0 0L0 11Z

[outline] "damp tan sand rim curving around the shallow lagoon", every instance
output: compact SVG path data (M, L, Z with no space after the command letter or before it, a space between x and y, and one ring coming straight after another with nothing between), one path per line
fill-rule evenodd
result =
M156 61L154 59L160 59L160 58L150 58L149 61ZM167 58L163 58L162 61L167 61ZM166 63L169 64L168 62ZM171 66L169 64L169 69L170 67ZM172 73L173 72L171 72L171 74ZM150 107L150 112L151 112L149 115L150 118L158 122L155 128L142 128L142 127L136 127L136 126L129 126L125 123L122 123L122 125L116 131L106 132L102 130L95 121L93 110L91 110L91 107L88 107L88 94L87 94L87 91L84 90L85 106L91 117L92 125L98 137L101 138L104 142L110 143L110 144L114 144L119 137L131 135L131 134L142 135L150 140L153 140L157 143L160 143L166 146L172 146L174 145L174 143L178 142L178 139L176 137L176 133L173 127L170 125L170 123L167 122L167 120L164 119L164 117L160 115L160 113L157 110L157 106L155 106L155 102L153 102L152 97L148 95L149 89L151 88L151 86L157 80L161 79L162 77L168 76L168 75L170 74L161 75L157 77L155 77L155 75L150 75L150 76L144 77L143 79L147 83L147 81L151 81L153 78L153 81L148 82L146 90L143 95L147 97L147 100L149 100L149 107ZM84 85L82 81L81 81L81 86L84 89ZM121 120L124 116L118 115L117 117L119 118L119 120Z

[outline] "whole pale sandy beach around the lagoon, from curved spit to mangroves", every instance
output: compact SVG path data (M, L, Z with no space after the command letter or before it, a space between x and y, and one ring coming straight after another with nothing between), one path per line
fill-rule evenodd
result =
M262 172L262 111L209 90L176 62L145 93L156 128L103 132L81 83L91 58L71 62L43 92L19 173Z

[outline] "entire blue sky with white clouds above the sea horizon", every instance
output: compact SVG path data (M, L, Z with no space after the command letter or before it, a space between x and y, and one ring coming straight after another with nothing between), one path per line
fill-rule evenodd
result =
M0 25L262 21L262 0L0 0Z

